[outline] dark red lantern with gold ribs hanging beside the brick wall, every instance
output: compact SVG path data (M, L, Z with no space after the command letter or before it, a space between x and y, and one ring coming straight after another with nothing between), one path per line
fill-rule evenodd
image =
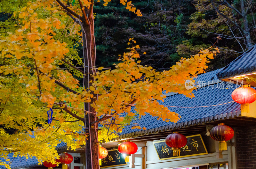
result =
M234 136L234 130L224 123L220 123L211 129L210 136L213 140L219 141L219 150L224 151L227 150L226 141Z

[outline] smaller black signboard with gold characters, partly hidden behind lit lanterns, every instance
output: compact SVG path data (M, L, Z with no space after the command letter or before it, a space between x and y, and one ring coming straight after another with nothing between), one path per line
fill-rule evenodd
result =
M100 168L114 167L119 165L127 165L124 161L124 156L117 149L109 150L108 156L101 159Z

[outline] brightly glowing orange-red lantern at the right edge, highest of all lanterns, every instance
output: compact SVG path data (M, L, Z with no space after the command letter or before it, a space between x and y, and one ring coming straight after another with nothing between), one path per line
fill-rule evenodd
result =
M249 113L249 103L252 103L256 100L256 91L248 87L248 85L244 85L243 87L239 87L232 92L232 99L236 101L236 103L241 104L241 112Z

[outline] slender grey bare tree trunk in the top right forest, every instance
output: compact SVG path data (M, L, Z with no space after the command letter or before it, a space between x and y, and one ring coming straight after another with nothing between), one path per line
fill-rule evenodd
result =
M251 36L250 36L250 29L248 26L248 20L247 20L247 14L245 13L245 8L244 8L244 0L240 0L240 6L241 6L241 13L243 16L243 24L244 24L244 36L246 40L246 46L247 48L252 47L252 41L251 41Z

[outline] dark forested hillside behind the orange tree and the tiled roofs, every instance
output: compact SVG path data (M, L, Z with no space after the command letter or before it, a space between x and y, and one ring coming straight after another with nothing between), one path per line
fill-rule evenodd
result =
M0 0L0 33L8 30L4 21L13 19L12 10L6 10L9 2ZM12 3L18 8L25 1ZM215 42L220 54L206 71L222 68L256 42L256 0L132 1L142 17L126 10L119 0L107 6L97 0L94 3L97 66L111 67L118 62L129 38L140 45L141 64L160 71ZM76 48L81 54L81 46Z

